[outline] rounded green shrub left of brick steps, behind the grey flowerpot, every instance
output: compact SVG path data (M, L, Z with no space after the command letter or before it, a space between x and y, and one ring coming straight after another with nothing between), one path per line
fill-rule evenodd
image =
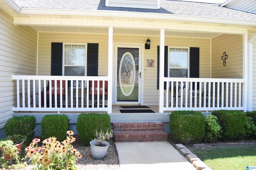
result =
M110 116L100 113L82 113L78 116L76 129L84 145L89 145L95 138L96 130L107 131L110 129Z

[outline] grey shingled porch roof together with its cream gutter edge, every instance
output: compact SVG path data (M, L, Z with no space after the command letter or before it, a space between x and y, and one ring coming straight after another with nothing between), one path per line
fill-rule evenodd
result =
M2 3L6 2L6 3ZM2 8L13 17L82 18L118 17L143 18L152 20L172 20L172 22L208 22L222 25L237 24L256 28L256 15L242 12L219 4L160 0L160 9L107 7L105 0L3 0ZM6 6L8 4L8 6ZM12 8L10 8L10 6ZM9 8L9 9L8 9ZM144 13L144 15L138 15ZM80 17L78 17L80 16Z

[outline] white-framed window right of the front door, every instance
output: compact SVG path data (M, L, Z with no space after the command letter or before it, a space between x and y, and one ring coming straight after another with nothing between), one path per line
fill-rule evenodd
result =
M168 77L188 77L189 75L189 48L169 49Z

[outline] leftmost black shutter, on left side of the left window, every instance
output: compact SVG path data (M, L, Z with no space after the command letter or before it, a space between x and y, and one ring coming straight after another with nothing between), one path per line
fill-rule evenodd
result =
M52 43L51 76L62 76L62 43Z

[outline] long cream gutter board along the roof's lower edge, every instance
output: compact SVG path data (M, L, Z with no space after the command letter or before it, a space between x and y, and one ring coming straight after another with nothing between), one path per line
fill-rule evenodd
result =
M186 16L175 14L156 14L156 13L139 13L126 11L110 10L63 10L63 9L42 9L42 8L22 8L20 14L27 15L64 15L64 16L100 16L113 18L138 18L138 19L156 19L156 20L176 20L176 21L194 21L204 23L222 23L232 25L249 25L255 26L256 20L242 20L232 18L212 18L202 16ZM117 17L118 16L118 17ZM29 16L28 16L29 17Z

